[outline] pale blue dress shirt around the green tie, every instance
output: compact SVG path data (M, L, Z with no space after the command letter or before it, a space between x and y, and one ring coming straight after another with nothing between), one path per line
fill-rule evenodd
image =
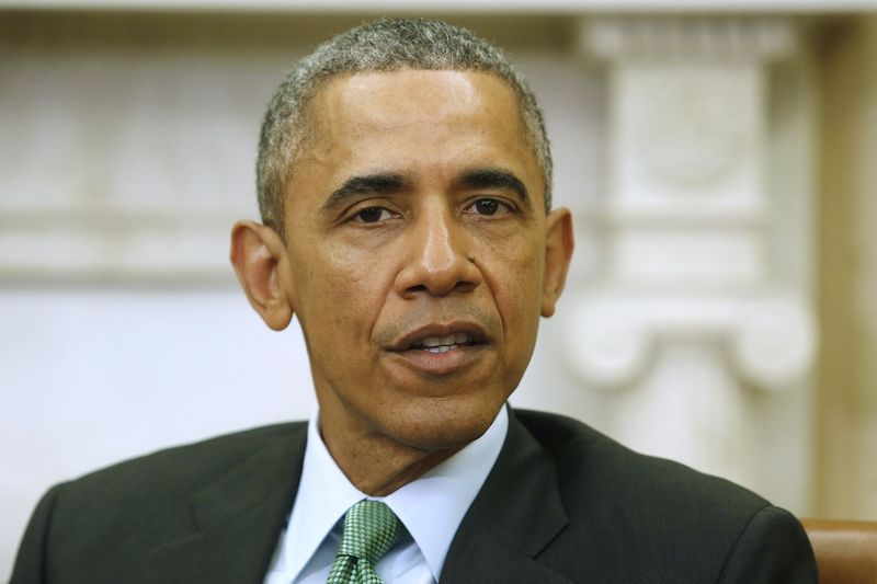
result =
M384 497L368 496L348 480L326 448L318 421L315 412L298 494L265 584L324 584L341 542L344 513L363 499L389 505L410 534L378 560L378 576L386 584L435 584L463 516L505 442L505 408L480 438Z

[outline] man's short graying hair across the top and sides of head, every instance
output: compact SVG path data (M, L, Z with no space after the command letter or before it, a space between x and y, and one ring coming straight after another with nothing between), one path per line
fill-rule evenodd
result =
M481 71L496 75L515 93L526 138L551 207L551 151L536 96L502 50L472 32L428 19L383 19L323 43L286 76L262 122L257 191L262 221L285 237L284 191L297 152L307 141L307 110L322 83L344 73L418 70Z

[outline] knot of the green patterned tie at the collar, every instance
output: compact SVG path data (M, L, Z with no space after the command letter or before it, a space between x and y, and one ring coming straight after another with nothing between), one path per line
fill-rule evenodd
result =
M406 529L386 503L363 500L344 514L339 554L377 562L405 536Z

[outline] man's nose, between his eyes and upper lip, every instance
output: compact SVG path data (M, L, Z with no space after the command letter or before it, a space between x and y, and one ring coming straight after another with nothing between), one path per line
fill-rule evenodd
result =
M446 296L481 284L471 237L449 209L424 210L403 239L406 263L397 277L401 296Z

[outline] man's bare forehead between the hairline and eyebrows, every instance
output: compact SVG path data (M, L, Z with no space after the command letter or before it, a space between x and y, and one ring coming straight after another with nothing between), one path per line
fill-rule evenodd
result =
M307 123L298 170L316 164L339 173L344 167L417 172L430 164L435 170L469 163L515 167L510 170L525 174L522 179L538 174L516 94L491 73L338 76L314 96Z

